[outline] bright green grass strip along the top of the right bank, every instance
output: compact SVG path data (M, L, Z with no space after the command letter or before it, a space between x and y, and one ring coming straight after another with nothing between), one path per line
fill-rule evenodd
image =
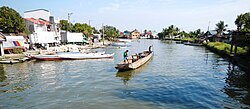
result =
M208 47L211 47L213 49L216 49L219 52L224 52L227 55L230 55L230 48L231 45L223 42L209 42L207 44ZM234 52L235 47L233 47ZM237 54L245 54L247 52L247 47L237 47Z

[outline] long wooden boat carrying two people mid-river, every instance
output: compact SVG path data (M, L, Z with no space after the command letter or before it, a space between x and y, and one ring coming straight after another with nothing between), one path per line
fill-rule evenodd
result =
M153 56L153 52L149 52L149 51L144 51L144 52L139 53L139 54L141 54L141 55L130 56L128 58L129 62L122 61L119 64L117 64L117 66L115 68L118 69L119 71L134 70L134 69L137 69L137 68L141 67L142 65L144 65Z

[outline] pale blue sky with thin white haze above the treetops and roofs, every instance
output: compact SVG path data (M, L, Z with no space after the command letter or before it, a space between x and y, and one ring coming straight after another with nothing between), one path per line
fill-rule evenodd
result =
M97 29L102 24L120 31L155 30L175 25L183 31L215 29L224 21L236 29L238 15L250 12L250 0L0 0L0 6L25 11L47 9L55 18L87 23Z

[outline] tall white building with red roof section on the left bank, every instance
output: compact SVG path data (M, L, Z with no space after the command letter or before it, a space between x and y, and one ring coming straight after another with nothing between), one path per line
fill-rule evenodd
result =
M26 27L31 32L29 35L31 44L55 45L60 43L59 20L55 20L48 10L26 11L24 18Z

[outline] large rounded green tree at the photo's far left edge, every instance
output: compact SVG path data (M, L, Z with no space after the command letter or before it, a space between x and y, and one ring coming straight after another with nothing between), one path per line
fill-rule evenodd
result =
M0 8L0 29L3 32L23 32L24 19L14 9L3 6Z

